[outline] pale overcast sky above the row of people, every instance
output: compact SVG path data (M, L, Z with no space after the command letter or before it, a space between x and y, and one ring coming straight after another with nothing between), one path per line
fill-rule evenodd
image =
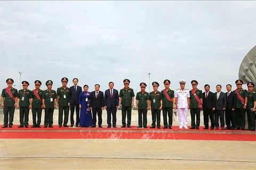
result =
M256 2L223 1L1 1L0 88L13 78L15 88L30 83L78 78L79 85L114 81L123 87L130 79L134 92L139 83L160 84L191 80L235 89L239 66L256 45ZM150 84L148 73L150 75ZM246 86L243 86L246 88Z

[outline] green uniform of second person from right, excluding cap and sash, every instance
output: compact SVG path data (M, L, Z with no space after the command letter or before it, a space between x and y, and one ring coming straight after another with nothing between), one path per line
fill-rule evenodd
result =
M236 93L236 90L234 90L233 92ZM245 89L240 89L238 91L238 94L240 94L243 99L245 99L245 97L248 97L248 92ZM244 104L242 104L241 100L237 97L237 103L236 103L236 129L242 129L244 130L245 128L245 112L246 109L243 109Z

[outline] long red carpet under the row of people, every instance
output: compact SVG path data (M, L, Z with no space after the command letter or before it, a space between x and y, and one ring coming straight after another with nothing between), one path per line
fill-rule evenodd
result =
M143 139L256 141L255 133L230 130L179 130L144 128L13 128L0 129L1 139ZM231 134L235 133L235 134Z

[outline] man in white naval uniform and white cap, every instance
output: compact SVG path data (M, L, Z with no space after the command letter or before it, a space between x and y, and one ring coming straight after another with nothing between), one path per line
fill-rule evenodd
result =
M175 91L175 100L177 103L176 109L178 109L178 116L179 116L179 129L183 127L188 129L188 109L189 109L189 90L185 89L186 81L181 79L179 81L180 88Z

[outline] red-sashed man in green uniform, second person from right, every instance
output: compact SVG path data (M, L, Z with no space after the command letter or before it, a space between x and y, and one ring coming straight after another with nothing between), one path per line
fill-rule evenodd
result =
M245 130L245 111L248 100L248 92L245 89L242 89L243 81L236 80L237 89L234 90L237 96L237 104L236 104L236 129L235 130Z

